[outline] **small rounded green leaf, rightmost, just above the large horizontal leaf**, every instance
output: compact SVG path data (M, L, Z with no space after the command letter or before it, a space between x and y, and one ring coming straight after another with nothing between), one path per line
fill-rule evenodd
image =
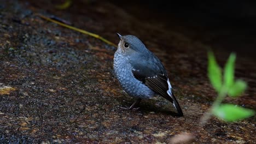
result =
M229 89L228 89L228 95L230 97L237 97L239 95L241 95L243 92L245 92L245 89L247 88L247 84L245 81L242 80L236 80L236 82L234 83L234 85L232 85Z

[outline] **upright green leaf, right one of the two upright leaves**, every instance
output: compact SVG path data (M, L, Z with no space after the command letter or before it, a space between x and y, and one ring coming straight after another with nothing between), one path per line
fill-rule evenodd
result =
M229 89L234 84L235 53L231 53L224 68L224 86Z

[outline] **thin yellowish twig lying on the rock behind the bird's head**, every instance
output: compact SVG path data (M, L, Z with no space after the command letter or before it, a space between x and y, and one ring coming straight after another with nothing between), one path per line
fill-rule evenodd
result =
M61 25L63 27L67 27L69 29L73 29L74 31L77 31L77 32L80 32L80 33L83 33L83 34L87 34L87 35L90 35L91 37L94 37L94 38L97 38L97 39L100 39L102 41L104 41L105 43L109 44L109 45L112 45L114 47L117 47L117 45L115 45L114 43L102 38L100 35L97 35L97 34L94 34L94 33L90 33L88 31L84 31L83 29L79 29L79 28L76 28L76 27L72 27L72 26L69 26L69 25L66 25L65 23L62 23L62 22L59 22L59 21L55 21L53 19L50 19L48 17L45 17L43 15L40 15L40 14L36 14L37 16L41 17L42 19L44 20L48 20L48 21L51 21L51 22L54 22L54 23L57 23L58 25Z

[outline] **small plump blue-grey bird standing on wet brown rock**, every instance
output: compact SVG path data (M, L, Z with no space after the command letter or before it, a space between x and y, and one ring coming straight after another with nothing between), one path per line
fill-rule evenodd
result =
M167 71L160 59L149 51L135 35L121 35L114 53L114 74L123 90L137 100L130 107L136 109L142 99L160 95L170 101L178 116L183 116L181 106L172 92Z

